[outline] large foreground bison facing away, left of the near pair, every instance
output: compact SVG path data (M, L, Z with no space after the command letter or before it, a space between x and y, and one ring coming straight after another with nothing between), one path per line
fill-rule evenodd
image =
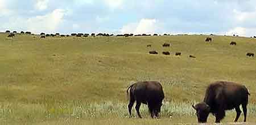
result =
M130 89L130 94L129 94ZM129 114L131 117L131 108L136 101L135 109L138 117L141 117L139 113L139 107L142 104L148 106L152 118L159 118L159 113L164 99L164 92L162 85L158 81L139 81L134 83L127 89L127 96L130 97L128 105Z

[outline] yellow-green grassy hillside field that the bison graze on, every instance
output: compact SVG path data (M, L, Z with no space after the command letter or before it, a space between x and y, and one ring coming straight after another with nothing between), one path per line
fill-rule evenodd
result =
M256 58L246 57L256 53L256 39L212 36L213 42L205 43L204 35L6 36L0 33L0 124L196 123L191 104L202 101L207 85L220 80L246 85L251 93L247 120L256 122ZM164 42L171 47L163 48ZM160 54L150 55L150 50ZM135 118L135 110L128 118L126 89L144 80L163 85L161 119L150 119L146 106L144 119ZM228 111L222 122L232 122L235 115ZM212 115L209 122L214 122Z

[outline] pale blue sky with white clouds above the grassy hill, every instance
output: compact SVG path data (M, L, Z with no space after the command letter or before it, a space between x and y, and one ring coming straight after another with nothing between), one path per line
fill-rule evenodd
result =
M256 36L255 0L0 0L0 31Z

